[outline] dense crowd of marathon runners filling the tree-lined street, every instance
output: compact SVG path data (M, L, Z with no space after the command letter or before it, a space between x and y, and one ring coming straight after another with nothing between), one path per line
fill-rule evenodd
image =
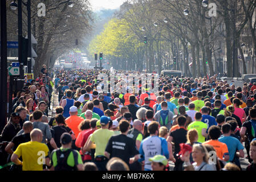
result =
M43 65L15 93L1 132L0 170L168 171L174 163L174 171L241 171L245 157L246 170L256 170L256 83L241 88L216 76L160 75L157 87L139 77L122 88L127 78L109 76L106 91L100 73L109 75L95 69L49 75ZM58 94L54 108L52 94Z

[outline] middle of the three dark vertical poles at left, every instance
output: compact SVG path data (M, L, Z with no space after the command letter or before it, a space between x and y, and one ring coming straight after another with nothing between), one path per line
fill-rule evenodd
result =
M23 61L22 61L22 0L18 0L18 57L19 57L19 78L23 79Z

